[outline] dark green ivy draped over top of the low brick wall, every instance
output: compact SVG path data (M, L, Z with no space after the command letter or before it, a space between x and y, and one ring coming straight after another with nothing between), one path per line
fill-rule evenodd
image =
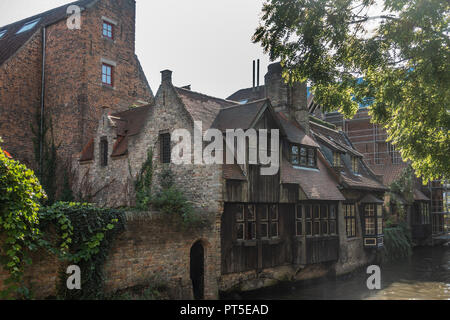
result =
M61 270L60 299L103 298L103 266L116 236L124 230L123 213L90 204L58 202L39 212L45 237L40 245L67 265L81 268L81 290L67 290L65 270ZM52 237L56 227L57 240Z

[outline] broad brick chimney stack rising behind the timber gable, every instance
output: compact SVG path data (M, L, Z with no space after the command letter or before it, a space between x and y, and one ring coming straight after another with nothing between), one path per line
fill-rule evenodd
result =
M287 84L283 79L283 68L279 62L269 65L265 76L266 97L276 112L282 111L305 129L309 130L306 83Z

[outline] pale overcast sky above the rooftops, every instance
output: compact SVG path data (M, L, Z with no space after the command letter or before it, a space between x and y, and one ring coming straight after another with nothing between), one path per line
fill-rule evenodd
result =
M0 26L70 3L70 0L0 0ZM160 71L177 86L226 98L252 86L252 61L269 59L251 37L263 0L136 0L136 53L154 93Z

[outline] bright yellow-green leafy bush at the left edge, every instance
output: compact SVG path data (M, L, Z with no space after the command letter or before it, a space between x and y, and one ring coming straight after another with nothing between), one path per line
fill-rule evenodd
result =
M0 148L0 263L10 275L3 298L20 290L24 266L30 263L27 253L39 236L39 201L45 197L33 171Z

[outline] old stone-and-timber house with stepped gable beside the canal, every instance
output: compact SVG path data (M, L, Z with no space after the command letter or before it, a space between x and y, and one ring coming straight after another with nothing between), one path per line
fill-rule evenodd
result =
M184 297L200 290L194 296L215 298L219 291L250 290L287 278L345 274L376 258L383 246L380 199L386 188L345 136L309 121L306 86L287 86L279 64L269 66L259 89L262 93L241 91L241 103L219 99L176 87L165 70L153 103L123 112L104 109L97 132L74 156L74 191L100 205L132 206L134 181L151 149L153 188L160 188L162 170L170 169L175 184L209 221L187 234L155 229L145 235L153 247L143 243L144 235L128 233L123 242L133 243L140 258L131 259L130 266L118 249L108 263L112 274L122 274L117 270L124 266L128 278L145 270L181 288ZM174 164L172 133L185 129L194 136L199 121L203 133L212 128L224 136L229 129L279 130L279 170L265 176L261 165L248 163ZM194 141L189 144L195 153ZM339 166L333 163L335 151ZM137 252L141 247L145 251ZM189 270L199 264L203 273L196 279Z

